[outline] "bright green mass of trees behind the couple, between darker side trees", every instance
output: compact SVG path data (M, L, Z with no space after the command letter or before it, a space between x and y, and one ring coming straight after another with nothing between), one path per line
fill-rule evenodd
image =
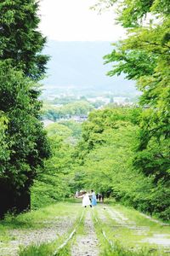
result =
M40 175L32 189L34 207L41 199L43 205L44 197L49 203L74 195L77 190L94 189L105 197L168 219L168 182L156 181L156 176L146 175L138 166L144 112L142 108L114 105L95 110L82 123L81 137L76 122L49 125L53 158L46 162L48 173ZM150 144L153 149L157 149L154 142ZM151 160L150 166L144 166L147 170L156 166L150 154Z

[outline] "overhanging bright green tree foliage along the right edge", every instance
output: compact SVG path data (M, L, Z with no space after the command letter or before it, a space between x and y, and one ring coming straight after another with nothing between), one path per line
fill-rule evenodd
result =
M115 5L116 3L116 5ZM114 63L110 76L125 73L142 91L139 146L133 166L152 180L150 212L169 218L170 195L170 9L168 1L99 1L116 6L117 21L127 28L127 38L113 44L106 63Z

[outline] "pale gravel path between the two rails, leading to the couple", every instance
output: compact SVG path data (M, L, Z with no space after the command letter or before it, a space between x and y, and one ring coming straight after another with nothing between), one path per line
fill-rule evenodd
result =
M98 256L99 241L94 231L94 223L92 219L92 209L86 209L86 217L84 220L85 234L78 235L76 242L71 247L71 256Z

